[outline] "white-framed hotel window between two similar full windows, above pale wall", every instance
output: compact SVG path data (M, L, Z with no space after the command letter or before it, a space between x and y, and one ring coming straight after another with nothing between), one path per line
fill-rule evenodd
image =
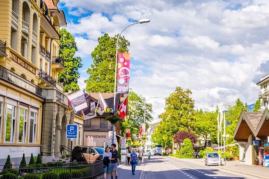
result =
M27 109L20 108L19 113L19 132L18 142L25 143L26 141L26 126L27 126Z

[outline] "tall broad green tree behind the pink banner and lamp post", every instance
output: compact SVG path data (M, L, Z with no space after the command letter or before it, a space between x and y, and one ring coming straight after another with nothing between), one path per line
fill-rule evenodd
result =
M89 78L84 81L87 84L87 92L114 92L115 55L118 35L110 37L105 33L98 38L98 45L91 53L93 64L87 70ZM118 52L127 53L128 46L130 46L129 41L124 36L120 36Z

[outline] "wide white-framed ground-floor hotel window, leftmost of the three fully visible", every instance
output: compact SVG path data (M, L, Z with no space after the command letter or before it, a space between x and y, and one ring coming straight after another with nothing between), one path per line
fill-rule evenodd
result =
M7 104L6 107L6 120L5 120L5 142L14 142L14 131L15 131L15 118L16 106Z

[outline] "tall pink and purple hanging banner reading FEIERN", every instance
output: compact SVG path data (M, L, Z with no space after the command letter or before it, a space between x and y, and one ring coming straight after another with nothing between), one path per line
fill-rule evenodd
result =
M118 53L117 93L129 93L130 53Z

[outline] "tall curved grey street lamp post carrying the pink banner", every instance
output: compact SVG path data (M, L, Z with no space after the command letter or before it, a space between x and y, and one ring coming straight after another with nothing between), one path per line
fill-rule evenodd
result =
M142 24L142 23L148 23L150 22L149 19L141 19L139 20L139 22L135 22L135 23L131 23L129 25L127 25L125 28L123 28L121 30L121 32L119 33L119 36L117 38L117 43L116 43L116 59L115 59L115 78L114 78L114 103L113 103L113 110L110 110L110 113L117 113L116 111L116 82L117 82L117 55L118 55L118 42L119 42L119 37L121 36L121 33L123 32L123 30L125 30L126 28L128 28L129 26L131 25L134 25L134 24ZM114 135L115 135L115 125L113 124L113 127L112 127L112 143L114 143Z

